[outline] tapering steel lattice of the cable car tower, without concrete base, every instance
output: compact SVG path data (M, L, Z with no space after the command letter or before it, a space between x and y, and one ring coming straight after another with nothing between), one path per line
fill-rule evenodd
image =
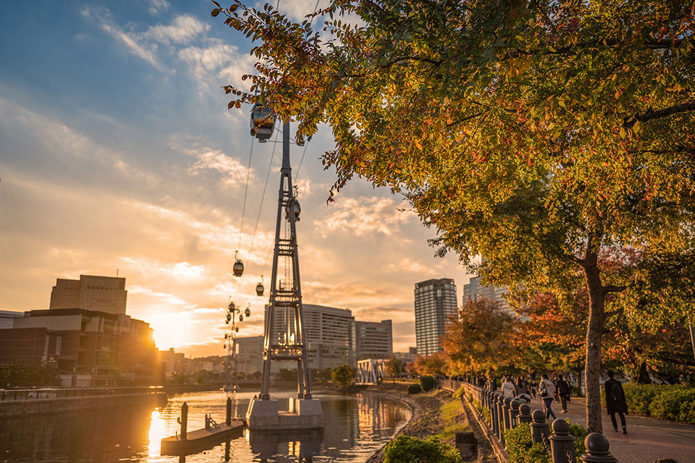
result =
M265 317L263 339L263 372L261 376L261 401L270 399L270 365L273 360L297 362L297 398L311 398L311 370L307 362L304 317L302 313L302 287L300 285L300 260L297 253L297 227L299 204L292 185L290 167L290 123L286 120L282 132L282 167L277 200L275 224L275 251L272 256L270 279L270 305ZM282 233L282 234L281 234ZM284 260L285 278L279 280L279 260ZM284 339L273 339L273 323L277 310L285 310ZM293 330L290 332L289 327Z

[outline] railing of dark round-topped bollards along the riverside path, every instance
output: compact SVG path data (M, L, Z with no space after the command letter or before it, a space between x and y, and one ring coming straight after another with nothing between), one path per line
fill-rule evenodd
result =
M506 448L505 431L516 428L519 423L530 423L532 440L545 446L546 451L553 459L553 463L576 462L574 437L569 433L569 425L563 419L556 419L552 425L549 425L543 410L534 410L531 413L531 407L528 403L520 403L509 397L505 398L502 394L473 385L470 382L439 380L439 385L443 389L450 389L451 391L464 387L466 397L462 397L462 400L466 401L471 395L480 403L482 409L489 411L489 414L483 413L479 420L485 423L491 431L488 437L496 441L492 444ZM550 435L551 427L553 435ZM602 434L591 432L584 440L584 445L587 448L587 453L580 457L582 462L618 462L608 451L608 439Z

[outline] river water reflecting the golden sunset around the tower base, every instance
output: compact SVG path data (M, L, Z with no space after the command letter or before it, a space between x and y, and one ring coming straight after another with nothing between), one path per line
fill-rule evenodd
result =
M292 392L272 394L286 410ZM227 396L232 416L243 416L254 393L194 392L148 405L42 416L0 422L0 462L364 462L410 418L397 401L375 396L315 394L325 415L322 432L242 435L185 459L160 455L160 441L179 430L177 417L188 403L188 430L204 427L204 415L224 421ZM282 408L281 408L282 410Z

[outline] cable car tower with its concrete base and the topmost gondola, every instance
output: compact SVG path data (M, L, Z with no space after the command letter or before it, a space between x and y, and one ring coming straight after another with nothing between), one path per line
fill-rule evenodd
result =
M275 114L256 104L252 110L251 134L259 141L272 134ZM270 131L268 131L270 128ZM270 304L265 316L263 338L263 371L261 394L249 403L246 413L250 429L301 429L322 428L323 412L320 402L311 398L311 370L308 362L308 346L304 335L300 264L297 253L297 228L299 203L295 198L290 166L290 123L284 122L282 132L282 167L275 224L275 251L272 256L270 278ZM279 260L284 260L284 279L279 280ZM284 339L274 332L276 314L284 311L284 325L288 328ZM292 322L292 323L291 323ZM289 328L293 328L290 330ZM288 412L278 413L277 401L270 399L270 367L273 360L297 362L297 398L290 398Z

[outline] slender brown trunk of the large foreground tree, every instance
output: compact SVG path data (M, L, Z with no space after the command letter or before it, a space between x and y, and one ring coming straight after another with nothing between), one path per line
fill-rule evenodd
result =
M603 432L601 424L600 378L601 337L605 319L605 291L598 273L596 252L587 250L584 278L589 289L589 322L587 323L587 363L584 369L587 388L587 430Z

